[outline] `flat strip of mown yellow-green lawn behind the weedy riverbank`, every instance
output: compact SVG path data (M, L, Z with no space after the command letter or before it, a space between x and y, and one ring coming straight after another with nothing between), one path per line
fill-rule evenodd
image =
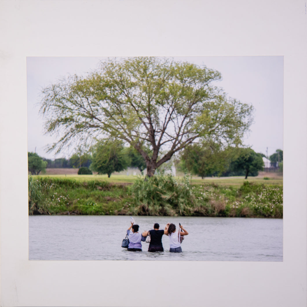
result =
M70 178L81 181L89 180L102 180L110 183L133 183L136 176L127 176L127 175L116 175L112 174L110 178L107 175L38 175L41 177L56 177L56 178ZM35 176L33 176L35 177ZM176 179L181 179L182 176L176 176ZM223 186L241 186L244 181L263 183L266 185L282 185L283 180L282 176L271 177L269 180L263 179L263 177L247 177L247 180L242 177L206 177L201 179L200 177L192 177L191 184L204 184L204 183L215 183Z

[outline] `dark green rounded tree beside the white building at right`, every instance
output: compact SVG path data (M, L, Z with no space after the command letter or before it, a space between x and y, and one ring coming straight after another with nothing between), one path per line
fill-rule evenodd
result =
M231 162L232 172L244 171L245 179L251 173L258 174L263 169L264 163L260 153L255 153L251 148L238 148L237 158Z

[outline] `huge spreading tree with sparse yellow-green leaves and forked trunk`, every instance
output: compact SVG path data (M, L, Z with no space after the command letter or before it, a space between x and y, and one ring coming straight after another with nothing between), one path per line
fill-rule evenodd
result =
M238 145L252 106L213 86L220 78L206 66L168 58L109 59L86 77L71 76L43 90L46 131L60 135L50 150L115 137L142 155L152 176L200 138Z

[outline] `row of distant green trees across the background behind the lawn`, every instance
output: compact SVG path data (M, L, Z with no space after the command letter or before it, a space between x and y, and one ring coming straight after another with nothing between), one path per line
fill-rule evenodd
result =
M179 171L204 177L220 176L257 176L264 163L262 153L251 148L221 147L214 142L204 142L187 146L175 160ZM282 150L270 156L271 164L279 165L282 171ZM278 162L279 160L279 162ZM143 173L146 161L133 147L125 147L116 139L105 139L91 148L91 153L74 153L69 160L55 160L39 157L37 153L28 153L28 169L33 175L44 173L46 168L78 168L79 174L107 174L120 172L128 167L136 167Z

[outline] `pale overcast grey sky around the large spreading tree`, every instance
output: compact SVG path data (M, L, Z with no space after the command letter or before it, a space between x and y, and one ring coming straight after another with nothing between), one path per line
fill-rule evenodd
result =
M39 115L41 89L69 74L86 75L101 57L27 57L28 151L54 159L45 146L56 142L44 134L44 118ZM221 72L222 87L228 96L254 106L254 123L243 140L256 152L270 156L283 149L283 57L282 56L206 56L174 57L174 60L206 65ZM56 158L70 156L65 149Z

